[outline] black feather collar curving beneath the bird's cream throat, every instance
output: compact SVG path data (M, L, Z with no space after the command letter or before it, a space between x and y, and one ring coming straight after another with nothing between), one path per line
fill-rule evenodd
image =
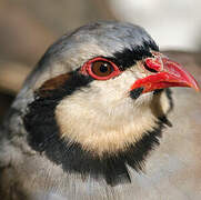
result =
M169 93L165 96L170 99ZM127 143L124 148L114 153L104 151L100 157L94 151L83 148L78 141L61 137L53 112L57 106L47 99L38 99L30 104L30 112L24 120L30 146L36 151L44 152L51 161L61 164L67 172L104 178L109 184L130 181L127 164L135 171L143 168L147 156L153 147L159 144L159 138L167 123L165 116L158 116L154 126L144 131L134 142ZM152 107L153 113L159 111L158 109L154 111L154 102ZM97 134L99 134L99 130L97 130Z

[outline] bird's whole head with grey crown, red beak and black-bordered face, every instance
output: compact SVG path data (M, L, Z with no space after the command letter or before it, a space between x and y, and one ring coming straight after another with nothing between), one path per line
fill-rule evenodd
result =
M24 114L30 146L68 170L79 168L64 164L76 152L88 167L119 154L140 162L170 124L167 88L199 89L143 28L123 22L90 23L63 36L33 74L28 82L34 96Z

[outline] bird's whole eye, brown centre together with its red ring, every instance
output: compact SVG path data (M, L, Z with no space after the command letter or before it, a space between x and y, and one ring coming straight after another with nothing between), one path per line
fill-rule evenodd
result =
M103 71L101 71L102 67L104 68ZM110 60L98 57L86 62L81 68L81 73L89 74L90 77L97 80L108 80L119 76L121 71Z

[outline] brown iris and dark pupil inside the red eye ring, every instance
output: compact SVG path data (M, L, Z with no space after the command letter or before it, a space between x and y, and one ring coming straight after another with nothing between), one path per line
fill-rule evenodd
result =
M91 70L96 76L108 77L112 73L113 67L105 61L96 61L91 64Z

